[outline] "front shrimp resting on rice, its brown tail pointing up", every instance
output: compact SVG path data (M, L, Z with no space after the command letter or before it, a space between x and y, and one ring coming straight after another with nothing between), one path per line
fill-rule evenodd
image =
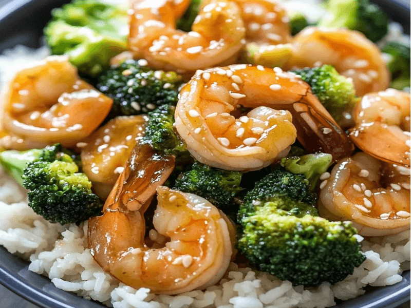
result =
M134 288L179 294L215 284L232 256L227 218L210 202L160 186L174 167L148 145L136 147L104 205L89 220L88 243L95 260ZM144 211L157 188L154 227L170 238L161 248L144 244Z

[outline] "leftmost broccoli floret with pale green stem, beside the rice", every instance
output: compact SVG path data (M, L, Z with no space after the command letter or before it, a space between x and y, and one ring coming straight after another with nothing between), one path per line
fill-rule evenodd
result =
M79 172L77 157L61 144L24 152L4 151L1 163L29 189L28 205L50 222L80 223L101 213L91 182Z

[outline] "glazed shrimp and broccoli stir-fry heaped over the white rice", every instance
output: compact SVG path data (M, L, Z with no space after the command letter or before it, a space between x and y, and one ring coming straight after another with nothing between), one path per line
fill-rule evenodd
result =
M3 93L1 166L136 290L213 290L232 262L343 281L363 237L410 228L410 49L384 43L368 0L329 0L316 22L284 6L54 9L51 55Z

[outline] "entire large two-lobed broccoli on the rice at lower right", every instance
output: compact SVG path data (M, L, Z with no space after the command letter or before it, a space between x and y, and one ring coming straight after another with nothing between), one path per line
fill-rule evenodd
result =
M357 230L318 217L315 199L304 175L274 170L240 206L240 251L261 271L293 285L344 280L365 260Z

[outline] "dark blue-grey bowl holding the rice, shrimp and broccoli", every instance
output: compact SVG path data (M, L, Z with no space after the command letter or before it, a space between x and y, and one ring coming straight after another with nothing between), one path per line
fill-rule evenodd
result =
M0 6L4 0L0 0ZM0 9L0 53L22 44L40 47L43 28L50 19L50 10L69 0L14 0ZM374 0L409 34L409 0ZM365 295L344 301L339 308L394 308L410 299L410 274L395 285L374 288ZM44 308L101 308L74 293L55 287L50 279L28 270L28 263L0 246L0 283L11 291Z

